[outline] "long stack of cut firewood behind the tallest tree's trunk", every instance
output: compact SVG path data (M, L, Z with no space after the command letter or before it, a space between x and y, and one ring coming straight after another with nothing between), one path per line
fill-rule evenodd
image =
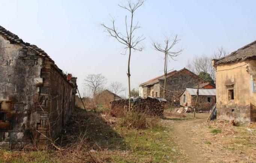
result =
M156 98L147 97L146 99L131 99L131 110L139 113L145 113L152 116L163 116L164 105L166 102ZM128 111L128 99L114 100L110 102L111 115L114 117L123 117Z

